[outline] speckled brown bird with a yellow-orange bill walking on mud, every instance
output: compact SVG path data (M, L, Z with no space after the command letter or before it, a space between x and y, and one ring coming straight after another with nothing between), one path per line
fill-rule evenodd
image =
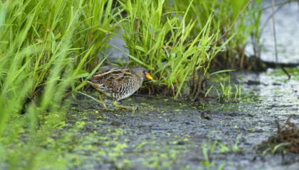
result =
M101 70L93 75L93 78L88 81L88 84L93 86L97 91L105 94L115 101L113 106L117 108L130 108L120 106L117 101L127 98L135 93L145 79L152 80L152 76L147 69L137 67L132 69L113 68ZM104 107L105 104L103 104Z

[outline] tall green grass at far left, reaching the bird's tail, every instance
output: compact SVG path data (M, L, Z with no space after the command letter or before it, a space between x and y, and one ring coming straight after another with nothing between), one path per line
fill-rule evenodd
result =
M0 2L0 169L63 165L44 145L64 125L65 92L100 64L118 12L112 0Z

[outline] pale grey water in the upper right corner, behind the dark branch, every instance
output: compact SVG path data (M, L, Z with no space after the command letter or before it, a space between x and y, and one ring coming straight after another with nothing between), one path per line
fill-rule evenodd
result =
M284 0L276 0L276 4ZM271 1L263 1L263 6L271 6ZM276 6L274 9L280 8ZM272 14L271 8L266 8L261 16L261 59L266 62L275 62L273 21L269 16ZM298 2L286 4L275 13L276 19L276 40L278 47L278 62L280 63L299 63L299 6ZM251 44L246 47L248 55L253 55Z

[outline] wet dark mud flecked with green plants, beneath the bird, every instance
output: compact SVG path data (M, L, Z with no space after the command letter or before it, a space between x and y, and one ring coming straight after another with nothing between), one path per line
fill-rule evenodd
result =
M298 125L298 79L285 81L279 70L235 79L246 96L240 103L211 100L204 108L132 96L122 104L138 105L137 112L105 112L78 95L61 132L69 136L61 145L69 148L70 169L298 169L299 154L263 156L256 150L276 134L276 120Z

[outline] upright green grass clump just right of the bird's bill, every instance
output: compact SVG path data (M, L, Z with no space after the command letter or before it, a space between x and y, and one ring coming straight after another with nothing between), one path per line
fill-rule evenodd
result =
M120 4L127 13L122 22L122 38L130 52L130 66L140 64L149 69L157 85L171 89L176 98L191 79L194 85L190 94L193 97L199 95L197 91L205 94L202 79L213 58L226 44L217 45L219 31L211 32L212 13L203 28L196 30L196 19L187 20L192 3L182 16L165 13L162 0L121 1ZM193 36L193 32L196 35Z

